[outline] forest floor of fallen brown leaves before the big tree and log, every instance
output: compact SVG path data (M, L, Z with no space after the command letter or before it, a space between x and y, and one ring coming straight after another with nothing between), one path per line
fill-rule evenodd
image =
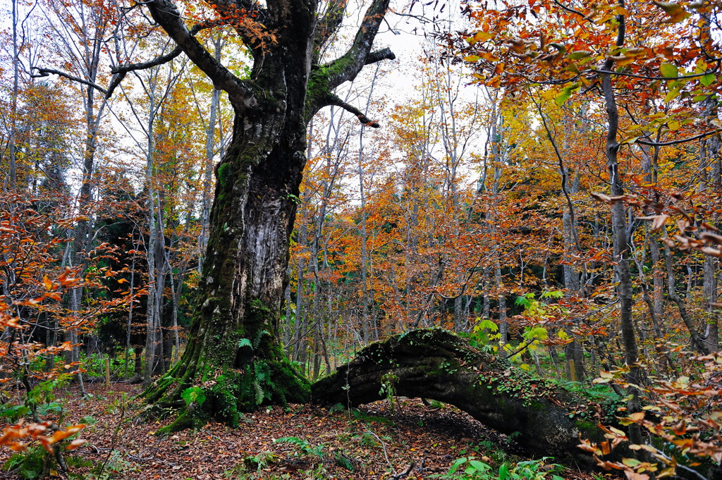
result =
M64 424L88 424L80 435L88 443L72 453L69 476L49 478L413 480L445 474L464 456L496 468L526 459L512 440L464 412L445 405L432 409L416 399L376 402L352 411L274 407L246 414L236 429L209 423L197 432L157 437L155 431L170 419L138 419L139 385L95 384L87 390L90 399L71 390L63 401ZM0 461L5 463L9 455L9 450L0 451ZM557 475L602 477L573 468ZM0 479L17 478L17 471L0 473Z

